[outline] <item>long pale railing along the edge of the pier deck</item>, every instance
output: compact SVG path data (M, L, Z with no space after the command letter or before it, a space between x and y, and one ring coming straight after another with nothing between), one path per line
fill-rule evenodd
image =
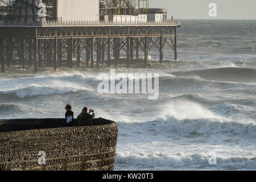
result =
M47 22L17 22L0 21L0 26L29 26L29 27L51 27L51 26L181 26L180 21L165 20L161 22L113 22L113 21L47 21Z

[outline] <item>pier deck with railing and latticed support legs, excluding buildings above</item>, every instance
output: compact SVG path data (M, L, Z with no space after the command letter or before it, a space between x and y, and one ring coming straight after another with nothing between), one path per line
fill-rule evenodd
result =
M163 61L164 46L174 51L177 60L177 27L179 21L113 23L92 21L65 22L0 22L0 60L2 72L5 65L34 65L34 72L43 63L56 70L63 60L73 68L73 61L80 67L81 55L86 57L86 67L94 68L108 64L113 52L115 66L118 65L120 51L127 54L127 68L139 49L144 52L144 65L147 66L148 52L151 48L159 51L159 61ZM107 59L105 59L105 56Z

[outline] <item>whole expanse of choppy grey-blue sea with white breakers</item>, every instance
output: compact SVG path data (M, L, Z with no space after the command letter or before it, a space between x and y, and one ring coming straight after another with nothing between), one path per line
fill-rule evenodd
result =
M63 117L68 103L77 115L86 105L118 123L116 170L255 170L256 20L183 20L173 57L166 47L164 69L115 69L159 73L158 100L99 94L108 68L1 75L0 118Z

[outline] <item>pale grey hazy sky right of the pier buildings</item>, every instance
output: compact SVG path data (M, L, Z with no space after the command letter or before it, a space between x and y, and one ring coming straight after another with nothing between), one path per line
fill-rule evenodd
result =
M208 15L216 3L217 17ZM149 0L150 7L166 7L168 19L256 19L256 0Z

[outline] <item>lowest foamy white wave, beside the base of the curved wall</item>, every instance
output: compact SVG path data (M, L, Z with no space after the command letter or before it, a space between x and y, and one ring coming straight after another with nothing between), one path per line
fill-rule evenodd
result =
M240 156L221 157L217 156L216 165L210 165L207 154L184 155L182 152L171 155L154 152L153 154L131 154L130 152L117 152L115 163L142 165L147 167L170 167L170 168L224 168L224 169L255 169L256 158L243 158Z

